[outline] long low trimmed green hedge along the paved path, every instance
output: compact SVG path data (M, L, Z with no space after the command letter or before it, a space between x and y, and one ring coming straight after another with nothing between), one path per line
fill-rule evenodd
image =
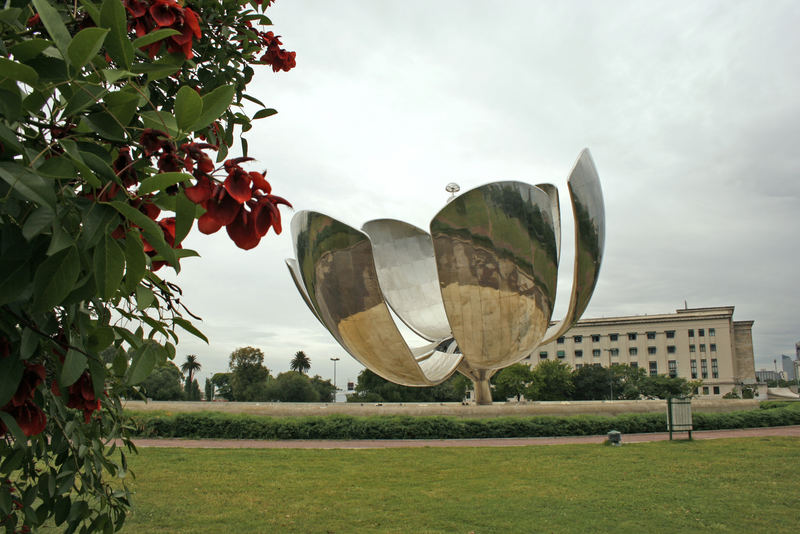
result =
M267 417L219 413L135 413L139 437L213 439L466 439L663 432L665 413L462 419L428 416ZM729 413L695 413L695 430L800 424L800 403Z

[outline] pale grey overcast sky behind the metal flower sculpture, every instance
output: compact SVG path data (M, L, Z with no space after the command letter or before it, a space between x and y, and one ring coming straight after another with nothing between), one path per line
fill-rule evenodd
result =
M273 192L360 228L427 228L448 182L551 182L580 150L606 205L600 280L584 317L736 307L756 368L800 340L800 3L279 0L268 14L297 68L262 68L252 94L279 114L248 133ZM182 337L204 376L237 347L273 374L298 350L337 383L360 365L317 323L284 258L286 231L241 251L224 231L185 243L184 302L210 345ZM201 384L202 385L202 384Z

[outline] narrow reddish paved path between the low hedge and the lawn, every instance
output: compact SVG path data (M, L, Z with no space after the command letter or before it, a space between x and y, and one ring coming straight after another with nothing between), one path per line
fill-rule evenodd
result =
M694 439L753 438L792 436L800 438L800 425L738 430L702 430L692 432ZM685 439L679 432L675 439ZM359 439L359 440L257 440L257 439L136 439L137 447L182 447L187 449L391 449L413 447L524 447L528 445L565 445L602 443L606 436L564 436L554 438L481 438L481 439ZM622 443L666 441L667 432L623 434Z

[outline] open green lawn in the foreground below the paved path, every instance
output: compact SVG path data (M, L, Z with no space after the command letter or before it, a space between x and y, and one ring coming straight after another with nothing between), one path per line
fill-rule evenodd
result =
M126 534L796 532L800 440L142 449Z

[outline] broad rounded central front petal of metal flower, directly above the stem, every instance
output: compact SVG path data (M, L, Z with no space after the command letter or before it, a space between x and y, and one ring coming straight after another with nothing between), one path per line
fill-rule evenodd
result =
M442 300L474 369L529 354L553 313L558 251L550 196L495 182L447 204L431 221Z

